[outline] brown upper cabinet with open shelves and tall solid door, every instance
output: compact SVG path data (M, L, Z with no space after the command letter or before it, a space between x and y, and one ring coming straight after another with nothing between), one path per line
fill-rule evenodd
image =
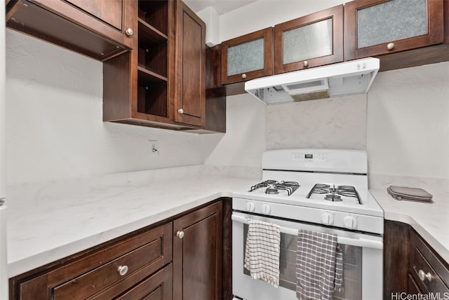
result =
M138 1L135 23L133 50L103 64L103 121L201 128L206 93L204 23L175 0Z

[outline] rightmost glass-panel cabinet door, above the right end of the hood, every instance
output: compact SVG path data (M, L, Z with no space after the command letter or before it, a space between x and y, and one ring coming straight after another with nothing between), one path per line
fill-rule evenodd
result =
M443 0L356 0L344 5L344 59L443 42Z

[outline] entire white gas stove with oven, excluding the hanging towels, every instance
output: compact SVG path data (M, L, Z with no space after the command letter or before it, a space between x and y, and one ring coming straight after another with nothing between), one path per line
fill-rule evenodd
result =
M384 212L368 191L366 151L281 149L262 155L262 180L234 191L234 299L296 299L297 236L302 230L337 236L343 250L344 290L334 299L382 299ZM251 219L281 231L279 287L253 280L243 268Z

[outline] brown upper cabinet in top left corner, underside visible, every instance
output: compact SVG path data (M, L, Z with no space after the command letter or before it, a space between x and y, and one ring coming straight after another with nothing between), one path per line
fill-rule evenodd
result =
M104 61L132 48L133 2L8 0L6 26Z

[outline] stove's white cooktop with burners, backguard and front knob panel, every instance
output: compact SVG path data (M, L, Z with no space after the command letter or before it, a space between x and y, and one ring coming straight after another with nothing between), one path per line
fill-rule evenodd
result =
M262 182L233 193L233 209L383 233L368 191L366 151L281 149L262 155Z

